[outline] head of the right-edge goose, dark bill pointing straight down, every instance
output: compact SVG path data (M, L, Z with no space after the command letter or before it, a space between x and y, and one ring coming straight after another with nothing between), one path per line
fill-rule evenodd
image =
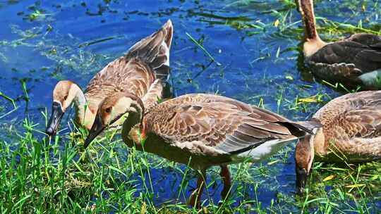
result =
M308 175L310 175L314 158L315 135L307 134L296 144L295 150L295 172L296 189L301 194L306 188Z

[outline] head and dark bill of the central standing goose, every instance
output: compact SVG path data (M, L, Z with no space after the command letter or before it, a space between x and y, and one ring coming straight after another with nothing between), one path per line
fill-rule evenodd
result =
M118 92L99 104L95 121L85 140L85 148L97 135L122 117L126 117L126 122L131 127L138 124L143 119L144 105L138 96L131 93ZM124 126L124 125L123 125ZM124 129L123 129L124 130Z

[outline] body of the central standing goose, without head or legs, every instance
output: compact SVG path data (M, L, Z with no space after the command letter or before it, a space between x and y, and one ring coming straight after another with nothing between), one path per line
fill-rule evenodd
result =
M159 142L145 144L145 151L198 170L263 160L296 141L294 134L304 134L280 115L211 94L186 94L160 103L146 113L141 125L131 132L122 130L128 146L137 145L138 139L131 136L137 137L138 131Z

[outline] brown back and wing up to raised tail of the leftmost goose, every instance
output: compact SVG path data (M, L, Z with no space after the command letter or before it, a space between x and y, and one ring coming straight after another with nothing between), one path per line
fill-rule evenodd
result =
M167 80L169 49L173 37L171 20L157 32L134 44L125 56L104 67L87 85L86 93L134 92L143 96L156 79Z

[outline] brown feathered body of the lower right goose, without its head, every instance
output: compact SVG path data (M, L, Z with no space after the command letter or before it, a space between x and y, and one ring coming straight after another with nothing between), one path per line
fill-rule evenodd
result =
M352 157L349 162L381 158L381 91L339 96L313 118L323 125L325 141L319 150L323 160L332 160L329 151L337 149Z

